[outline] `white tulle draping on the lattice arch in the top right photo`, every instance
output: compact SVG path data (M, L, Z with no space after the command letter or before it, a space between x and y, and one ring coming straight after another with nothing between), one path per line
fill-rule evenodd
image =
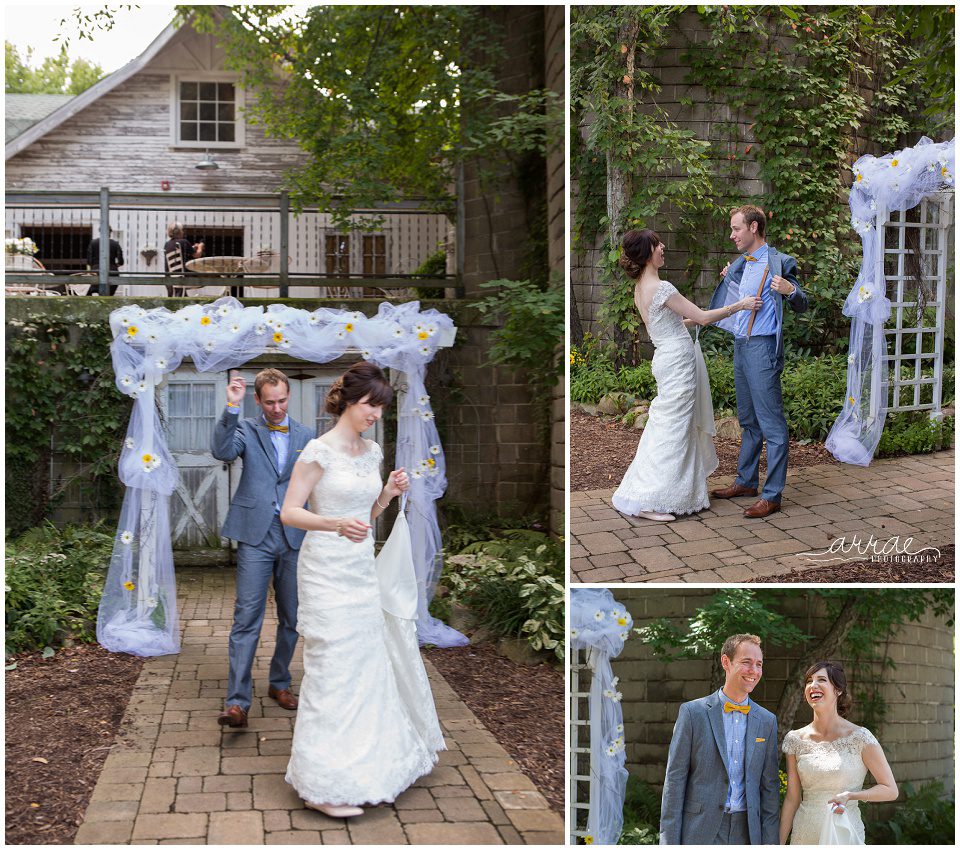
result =
M826 446L843 463L867 466L883 433L887 392L882 386L887 353L883 326L890 299L883 267L883 225L888 210L908 210L943 187L954 185L955 146L924 136L916 147L862 156L853 165L851 224L863 242L863 262L843 305L850 317L847 395Z

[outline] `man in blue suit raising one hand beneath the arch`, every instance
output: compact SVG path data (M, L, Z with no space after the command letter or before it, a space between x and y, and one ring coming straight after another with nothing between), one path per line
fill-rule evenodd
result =
M278 369L264 369L254 380L255 419L241 419L246 382L234 375L227 386L227 407L213 431L211 451L225 463L243 459L240 484L221 529L237 541L237 601L230 631L230 674L221 726L247 725L253 698L251 670L273 578L277 600L277 642L270 662L268 696L293 710L290 659L297 645L297 557L304 532L280 523L280 506L293 464L313 433L287 416L290 381Z

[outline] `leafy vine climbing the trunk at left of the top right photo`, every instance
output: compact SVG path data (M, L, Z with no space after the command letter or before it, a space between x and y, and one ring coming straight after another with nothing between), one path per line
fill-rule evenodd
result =
M575 246L605 236L599 280L608 294L600 319L613 329L621 363L635 361L630 346L639 320L633 282L617 268L620 236L658 216L669 219L674 231L690 231L713 207L709 145L656 106L661 86L645 68L666 44L682 8L584 6L574 7L571 16L571 108L574 132L582 134L573 145ZM597 185L603 180L605 202Z

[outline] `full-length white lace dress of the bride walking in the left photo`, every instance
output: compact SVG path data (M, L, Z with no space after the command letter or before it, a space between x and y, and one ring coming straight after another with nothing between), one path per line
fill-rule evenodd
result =
M380 493L373 441L351 457L311 440L299 461L323 475L309 500L360 519ZM391 802L445 749L415 622L381 610L372 535L352 543L308 531L297 564L303 682L286 779L310 803Z

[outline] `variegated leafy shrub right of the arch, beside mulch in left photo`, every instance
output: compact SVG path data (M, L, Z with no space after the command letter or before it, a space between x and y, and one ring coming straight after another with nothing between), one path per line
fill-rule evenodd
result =
M563 549L543 532L503 531L448 555L441 582L450 602L470 609L500 637L526 637L563 660Z

